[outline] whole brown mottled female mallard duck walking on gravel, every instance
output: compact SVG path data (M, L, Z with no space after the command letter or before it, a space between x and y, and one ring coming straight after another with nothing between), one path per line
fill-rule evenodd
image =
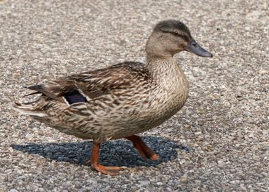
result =
M40 98L14 107L60 132L93 139L91 167L115 175L120 167L99 164L103 141L125 138L143 158L159 159L134 134L161 125L185 104L189 83L173 58L183 50L212 57L191 37L184 23L161 21L145 47L146 64L123 62L30 86L35 91L32 94L40 93Z

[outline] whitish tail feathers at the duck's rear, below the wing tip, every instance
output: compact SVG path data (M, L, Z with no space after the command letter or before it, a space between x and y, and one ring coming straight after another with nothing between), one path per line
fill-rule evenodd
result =
M47 114L43 111L37 110L36 102L19 104L15 102L12 106L15 110L21 112L23 115L30 115L32 117L46 117Z

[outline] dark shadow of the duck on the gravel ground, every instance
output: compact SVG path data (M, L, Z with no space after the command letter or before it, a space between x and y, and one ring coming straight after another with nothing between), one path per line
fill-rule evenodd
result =
M190 148L178 145L168 139L156 136L145 136L143 141L160 156L160 160L144 160L139 156L130 141L117 140L102 144L100 149L100 163L109 166L154 166L159 163L174 160L177 156L176 149L191 151ZM27 143L25 145L12 145L13 149L29 154L38 154L51 160L85 165L91 157L92 141L75 143Z

